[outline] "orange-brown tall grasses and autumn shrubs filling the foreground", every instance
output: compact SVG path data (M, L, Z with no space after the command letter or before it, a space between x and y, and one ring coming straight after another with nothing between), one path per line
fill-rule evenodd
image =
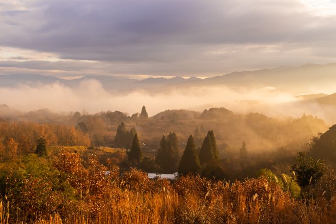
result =
M49 177L28 175L18 180L7 175L0 224L335 224L336 220L335 197L296 199L264 178L229 183L187 175L170 183L150 180L137 169L120 176L117 167L104 167L94 157L84 167L70 152L63 152L54 168L62 187L56 188L55 179ZM109 175L104 174L107 169L112 171ZM65 183L71 185L67 190Z

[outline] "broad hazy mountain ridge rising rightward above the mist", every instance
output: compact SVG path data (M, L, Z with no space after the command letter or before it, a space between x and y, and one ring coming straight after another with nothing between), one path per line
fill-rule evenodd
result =
M305 64L299 67L279 67L255 71L232 72L203 80L178 84L179 86L227 85L230 87L273 86L293 94L311 90L333 88L336 82L336 63L326 65ZM175 86L176 87L176 86Z

